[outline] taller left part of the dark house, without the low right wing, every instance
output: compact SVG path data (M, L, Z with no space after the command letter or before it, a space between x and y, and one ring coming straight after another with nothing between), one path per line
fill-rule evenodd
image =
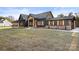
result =
M20 14L19 26L43 27L46 24L46 20L49 18L53 18L51 11L40 14L29 14L29 15Z

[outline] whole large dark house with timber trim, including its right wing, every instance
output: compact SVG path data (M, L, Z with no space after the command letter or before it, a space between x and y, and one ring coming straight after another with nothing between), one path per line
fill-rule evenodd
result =
M19 17L19 26L27 27L45 27L54 29L74 29L75 17L65 16L54 18L51 11L40 14L21 14Z

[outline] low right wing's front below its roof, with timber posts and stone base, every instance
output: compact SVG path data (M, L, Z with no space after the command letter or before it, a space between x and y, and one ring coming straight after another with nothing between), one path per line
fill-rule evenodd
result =
M75 28L74 20L49 20L48 28L71 30Z

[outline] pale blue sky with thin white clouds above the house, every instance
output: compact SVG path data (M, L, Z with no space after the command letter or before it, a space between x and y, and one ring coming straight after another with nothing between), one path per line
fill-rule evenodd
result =
M54 17L63 13L67 15L69 12L79 13L78 7L0 7L0 16L14 16L18 19L20 14L38 14L51 11Z

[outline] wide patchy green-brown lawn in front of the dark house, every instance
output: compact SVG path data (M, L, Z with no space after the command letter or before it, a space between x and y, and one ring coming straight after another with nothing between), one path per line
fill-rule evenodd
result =
M69 50L72 39L71 34L53 29L4 29L0 30L0 50Z

